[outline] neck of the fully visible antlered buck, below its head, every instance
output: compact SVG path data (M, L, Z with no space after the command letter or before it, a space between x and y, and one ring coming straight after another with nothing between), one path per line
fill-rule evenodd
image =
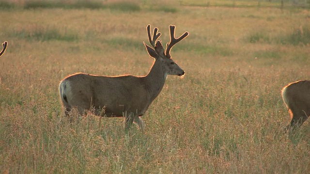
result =
M165 85L168 72L163 69L160 61L154 62L150 72L145 76L147 88L153 101Z

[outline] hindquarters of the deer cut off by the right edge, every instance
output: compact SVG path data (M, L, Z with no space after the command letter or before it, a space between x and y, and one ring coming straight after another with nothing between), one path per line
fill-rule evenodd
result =
M292 118L286 130L300 127L310 116L310 81L300 80L283 87L282 99Z

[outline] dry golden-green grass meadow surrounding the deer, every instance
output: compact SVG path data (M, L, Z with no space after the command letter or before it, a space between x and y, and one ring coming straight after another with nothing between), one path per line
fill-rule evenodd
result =
M310 79L309 1L1 0L0 173L303 174L310 125L283 129L280 91ZM186 74L169 76L137 126L62 114L68 74L145 75L159 28Z

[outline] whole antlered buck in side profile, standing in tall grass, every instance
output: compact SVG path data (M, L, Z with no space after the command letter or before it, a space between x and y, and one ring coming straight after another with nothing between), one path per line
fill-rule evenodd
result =
M144 127L141 120L145 111L162 90L167 75L183 76L185 72L177 65L170 55L171 48L188 35L186 31L179 38L174 37L175 26L170 25L170 42L164 50L161 41L157 41L160 32L157 28L153 37L147 26L147 35L151 46L144 45L150 57L155 58L149 73L145 76L121 75L101 76L76 73L65 77L59 86L62 105L67 116L73 108L80 115L93 110L97 116L123 117L124 129L137 123Z

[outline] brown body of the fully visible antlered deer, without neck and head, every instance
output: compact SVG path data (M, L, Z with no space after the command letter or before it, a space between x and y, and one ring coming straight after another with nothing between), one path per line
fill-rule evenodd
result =
M106 115L123 116L124 111L140 114L151 104L144 78L133 75L98 76L77 73L61 82L70 107L105 107Z

